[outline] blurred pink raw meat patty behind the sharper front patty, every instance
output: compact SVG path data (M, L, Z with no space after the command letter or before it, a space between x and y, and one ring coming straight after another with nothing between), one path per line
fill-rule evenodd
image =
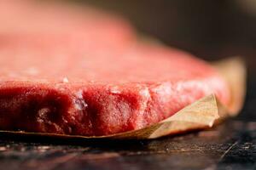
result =
M34 38L55 46L83 44L104 49L124 48L135 38L130 24L118 16L64 2L0 0L0 22L0 40L5 41Z

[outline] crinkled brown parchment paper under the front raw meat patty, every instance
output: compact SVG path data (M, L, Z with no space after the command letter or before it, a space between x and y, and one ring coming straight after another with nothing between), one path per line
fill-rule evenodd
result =
M214 94L195 101L183 110L166 120L152 126L139 130L117 133L108 136L79 136L62 135L53 133L25 133L13 131L0 131L0 133L11 133L20 135L40 135L58 138L72 139L156 139L162 136L189 132L212 127L230 116L236 116L244 101L246 92L246 68L239 58L224 59L213 64L220 74L230 84L231 102L229 105L222 105Z

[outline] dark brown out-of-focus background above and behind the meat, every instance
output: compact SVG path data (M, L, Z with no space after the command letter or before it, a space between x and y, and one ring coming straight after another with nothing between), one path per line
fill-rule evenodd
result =
M74 2L74 1L72 1ZM241 56L247 102L239 119L256 119L256 0L77 0L120 14L137 31L202 59Z

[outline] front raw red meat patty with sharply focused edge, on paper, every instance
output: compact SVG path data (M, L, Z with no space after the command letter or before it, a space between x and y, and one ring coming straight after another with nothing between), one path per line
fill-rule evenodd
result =
M119 21L105 31L86 27L103 19L84 21L84 30L94 32L90 38L79 38L80 20L80 31L63 34L55 26L26 32L9 24L9 33L0 26L0 129L106 135L160 122L208 94L229 103L229 88L211 65L177 49L131 41ZM112 26L118 41L112 41Z

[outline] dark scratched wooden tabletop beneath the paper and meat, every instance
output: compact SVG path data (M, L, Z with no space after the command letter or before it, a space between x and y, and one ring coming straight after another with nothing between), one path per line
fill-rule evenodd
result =
M211 130L151 141L2 134L0 169L256 169L255 101L248 93L241 115Z

